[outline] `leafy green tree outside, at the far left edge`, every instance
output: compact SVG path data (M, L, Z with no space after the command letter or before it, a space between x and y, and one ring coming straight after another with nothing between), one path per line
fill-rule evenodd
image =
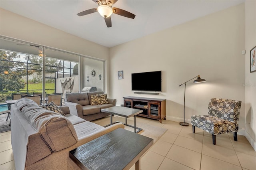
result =
M0 50L0 92L20 91L25 88L22 76L27 75L24 63L19 63L17 53ZM14 60L15 59L15 60ZM28 71L31 75L32 71Z

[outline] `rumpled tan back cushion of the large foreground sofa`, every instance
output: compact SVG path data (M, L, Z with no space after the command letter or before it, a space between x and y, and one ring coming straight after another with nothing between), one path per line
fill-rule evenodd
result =
M16 105L30 124L41 134L52 152L72 146L78 141L76 130L64 116L39 107L31 99L19 99Z

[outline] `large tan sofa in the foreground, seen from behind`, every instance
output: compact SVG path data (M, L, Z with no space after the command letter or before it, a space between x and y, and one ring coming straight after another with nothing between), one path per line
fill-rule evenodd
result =
M17 170L79 169L69 158L69 151L117 128L118 123L102 127L70 114L64 116L39 107L30 99L11 105L11 141Z

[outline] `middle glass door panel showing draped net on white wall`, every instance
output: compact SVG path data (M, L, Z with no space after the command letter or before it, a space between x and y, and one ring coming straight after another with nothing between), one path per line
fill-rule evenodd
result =
M45 89L48 93L79 92L78 66L80 55L45 49ZM50 91L54 89L55 91Z

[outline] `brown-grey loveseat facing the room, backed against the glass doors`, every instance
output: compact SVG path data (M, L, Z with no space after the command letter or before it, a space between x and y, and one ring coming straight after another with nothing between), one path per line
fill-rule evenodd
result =
M106 117L110 114L101 112L101 109L116 106L116 99L108 98L108 104L91 105L91 96L97 94L104 94L104 92L66 93L65 106L69 107L71 114L74 114L86 121L93 121Z

